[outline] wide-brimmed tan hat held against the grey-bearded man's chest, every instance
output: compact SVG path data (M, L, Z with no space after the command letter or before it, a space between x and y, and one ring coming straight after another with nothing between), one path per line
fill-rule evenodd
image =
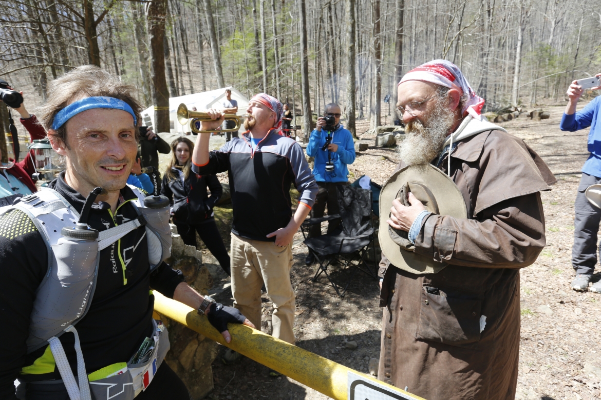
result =
M416 274L437 273L447 266L432 257L413 252L408 233L396 230L386 223L389 219L392 200L399 199L409 206L409 192L421 201L426 209L438 215L467 218L465 200L457 185L438 168L431 164L415 164L395 172L380 191L380 230L378 239L382 253L391 264Z

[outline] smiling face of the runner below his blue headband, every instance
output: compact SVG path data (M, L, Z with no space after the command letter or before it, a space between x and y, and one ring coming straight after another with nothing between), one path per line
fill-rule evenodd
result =
M86 110L67 121L66 131L69 145L52 140L52 147L66 158L69 181L76 182L81 190L99 186L118 191L125 187L138 152L130 113Z

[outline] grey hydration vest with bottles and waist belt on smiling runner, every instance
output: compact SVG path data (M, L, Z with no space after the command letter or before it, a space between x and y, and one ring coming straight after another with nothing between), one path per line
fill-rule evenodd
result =
M12 205L0 207L0 216L11 210L20 210L28 215L46 244L48 267L46 275L35 292L29 336L26 341L27 353L46 344L50 345L50 351L71 400L133 399L150 384L154 372L169 350L166 328L154 322L155 329L151 338L154 341L154 349L147 362L133 365L132 355L132 359L127 363L118 363L106 367L108 369L100 370L106 369L111 376L102 376L101 372L100 379L88 382L79 336L74 325L84 317L94 296L100 251L130 231L144 226L148 241L150 270L154 270L171 254L169 207L159 209L145 207L145 196L137 188L128 186L138 197L130 201L138 213L138 218L100 232L96 240L74 239L61 234L63 227L73 227L76 224L79 213L55 190L42 189L29 196L21 197ZM58 339L64 332L72 332L75 335L79 385L76 383L63 345ZM114 369L117 370L113 371Z

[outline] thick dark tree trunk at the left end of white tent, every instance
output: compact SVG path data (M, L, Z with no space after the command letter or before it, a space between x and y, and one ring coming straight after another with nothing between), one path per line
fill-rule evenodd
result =
M165 17L166 0L146 3L148 36L150 39L150 75L154 103L154 130L169 132L169 92L165 79Z

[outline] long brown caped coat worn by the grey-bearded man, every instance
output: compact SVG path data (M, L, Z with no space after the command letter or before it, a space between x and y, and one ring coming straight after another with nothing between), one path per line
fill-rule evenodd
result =
M539 192L556 180L532 149L502 131L457 143L451 177L469 218L427 216L415 243L416 252L449 266L414 275L380 262L378 378L427 400L513 400L519 269L545 247Z

